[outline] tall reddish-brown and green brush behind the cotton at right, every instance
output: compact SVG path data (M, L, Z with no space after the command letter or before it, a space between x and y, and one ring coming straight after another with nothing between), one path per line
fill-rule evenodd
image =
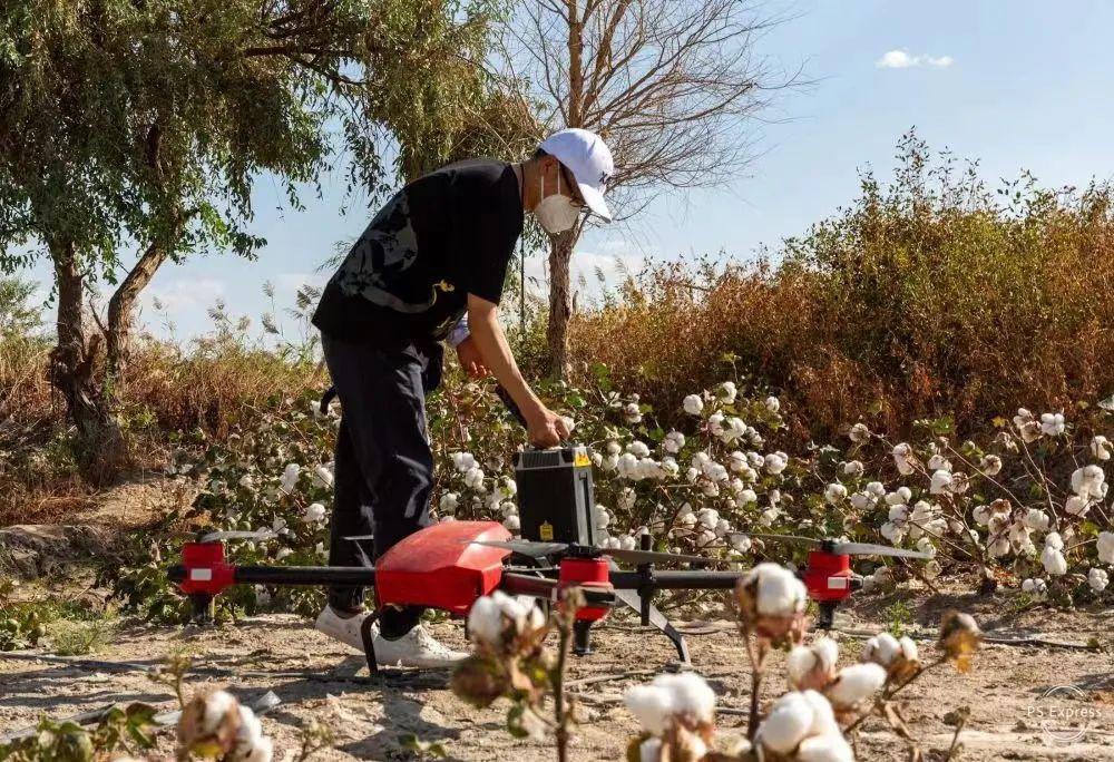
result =
M960 431L1018 406L1114 392L1108 187L1000 197L905 146L898 179L786 242L776 268L666 265L576 318L576 359L674 410L724 363L804 411L802 437L857 419L890 431L951 416Z

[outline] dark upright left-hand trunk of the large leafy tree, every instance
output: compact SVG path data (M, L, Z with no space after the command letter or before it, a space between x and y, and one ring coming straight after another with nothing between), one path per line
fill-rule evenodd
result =
M123 459L124 437L96 383L101 338L86 329L85 281L74 244L51 242L50 256L58 285L58 345L51 353L51 382L77 426L86 476L100 482Z

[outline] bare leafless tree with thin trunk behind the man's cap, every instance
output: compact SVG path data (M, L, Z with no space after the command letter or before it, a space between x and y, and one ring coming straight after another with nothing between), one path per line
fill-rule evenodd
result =
M526 82L548 130L583 127L607 141L615 206L629 216L658 193L719 185L747 162L751 118L788 84L769 81L753 58L770 23L747 0L537 0L510 27L502 70ZM548 344L559 378L582 233L549 236Z

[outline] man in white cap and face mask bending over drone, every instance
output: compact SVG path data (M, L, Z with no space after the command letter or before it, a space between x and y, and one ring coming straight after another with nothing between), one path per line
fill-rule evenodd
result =
M568 431L522 379L499 325L499 299L527 212L550 233L582 211L610 221L614 172L598 136L561 130L519 164L460 162L410 183L375 215L325 286L313 323L341 401L329 563L371 565L374 554L428 526L433 458L426 397L441 375L441 345L473 375L495 375L521 410L532 444ZM450 336L451 332L451 336ZM421 608L389 608L377 623L384 664L449 666L465 654L433 639ZM362 651L363 589L336 587L317 617L323 633Z

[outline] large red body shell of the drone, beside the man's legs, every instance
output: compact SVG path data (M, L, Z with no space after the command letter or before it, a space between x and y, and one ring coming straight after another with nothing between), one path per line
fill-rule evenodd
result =
M463 616L502 578L510 550L473 540L510 539L496 521L444 521L400 540L375 560L380 606L431 606Z

